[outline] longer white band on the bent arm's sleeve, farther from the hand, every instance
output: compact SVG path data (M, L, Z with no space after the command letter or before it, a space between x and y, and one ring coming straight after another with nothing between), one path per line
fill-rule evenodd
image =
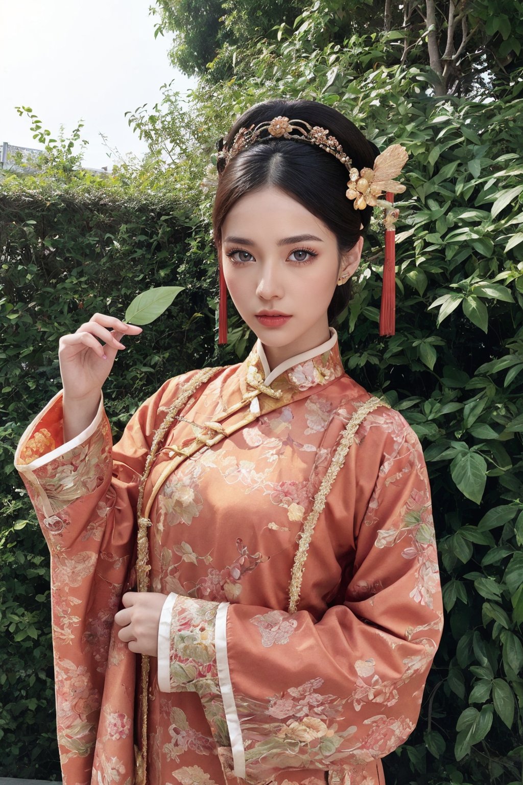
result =
M218 670L218 683L223 700L223 710L227 720L227 729L231 739L232 758L234 761L234 776L240 780L245 778L245 750L243 748L242 728L238 719L236 703L232 691L229 659L227 657L227 608L228 602L220 602L216 612L216 668Z

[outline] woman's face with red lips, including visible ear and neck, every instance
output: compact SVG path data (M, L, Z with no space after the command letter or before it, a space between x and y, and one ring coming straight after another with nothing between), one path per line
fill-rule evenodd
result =
M358 267L363 237L340 257L336 235L272 186L238 199L221 236L227 289L271 368L329 339L327 309L338 278Z

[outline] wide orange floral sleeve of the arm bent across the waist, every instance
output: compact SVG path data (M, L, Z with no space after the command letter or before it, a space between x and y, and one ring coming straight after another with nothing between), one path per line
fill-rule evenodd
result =
M347 520L354 566L339 604L321 619L186 597L173 605L170 689L200 693L230 776L261 783L319 769L343 780L416 725L441 590L421 446L401 415L387 416L363 514ZM343 506L343 471L331 495Z

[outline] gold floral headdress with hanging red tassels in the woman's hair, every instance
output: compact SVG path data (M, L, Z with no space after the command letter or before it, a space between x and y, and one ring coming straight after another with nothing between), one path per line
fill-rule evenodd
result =
M405 185L398 183L394 177L405 166L409 158L407 151L401 144L390 144L386 150L377 156L372 169L365 166L358 170L352 164L352 160L343 151L340 142L329 135L328 128L321 126L311 126L305 120L289 120L288 117L278 115L267 122L260 122L257 126L242 126L235 134L233 141L227 148L218 152L216 166L218 171L223 173L228 162L260 140L260 134L267 131L271 137L277 139L289 139L296 142L307 142L317 144L325 152L334 155L349 173L347 181L347 199L354 203L354 210L365 210L365 207L383 207L383 223L385 225L385 264L383 265L383 297L380 313L380 335L394 334L394 222L398 219L399 210L393 208L394 194L403 193ZM296 133L292 133L296 132ZM267 137L264 137L267 138ZM386 193L386 199L380 196ZM343 282L342 282L343 283ZM220 267L220 314L219 314L219 343L227 343L227 288L223 271Z

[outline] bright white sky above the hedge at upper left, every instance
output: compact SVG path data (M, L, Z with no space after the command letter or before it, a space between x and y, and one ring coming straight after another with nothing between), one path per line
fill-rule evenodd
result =
M176 71L167 51L169 34L154 38L158 16L150 0L0 0L0 143L39 148L31 121L16 106L31 107L57 138L79 119L84 165L108 166L107 144L126 155L143 155L144 141L129 128L125 111L142 104L152 109L160 87L173 79L185 94L196 80ZM76 148L75 148L76 149Z

